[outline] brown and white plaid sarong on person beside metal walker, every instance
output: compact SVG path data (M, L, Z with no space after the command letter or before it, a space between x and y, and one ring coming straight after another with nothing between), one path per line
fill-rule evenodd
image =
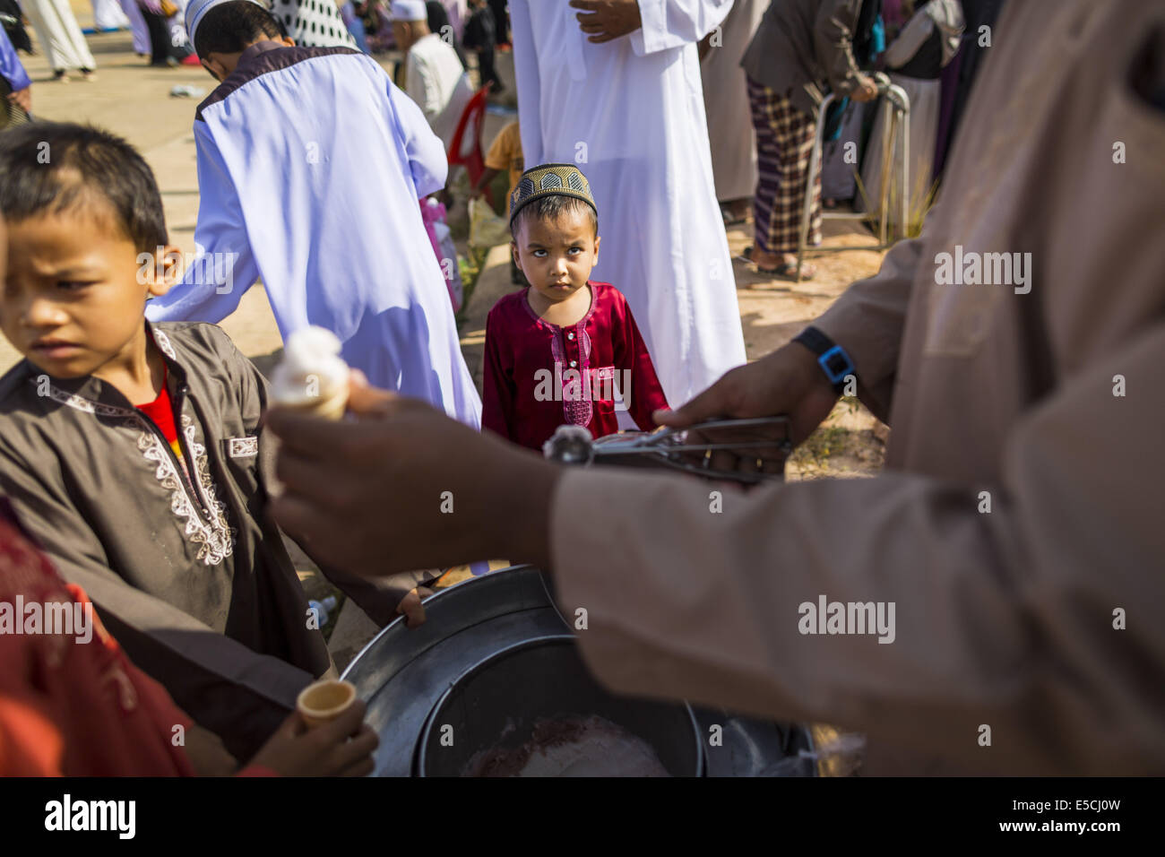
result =
M796 253L805 205L805 181L813 153L817 118L768 86L748 78L748 103L756 129L756 246L769 253ZM821 243L821 171L813 183L809 244Z

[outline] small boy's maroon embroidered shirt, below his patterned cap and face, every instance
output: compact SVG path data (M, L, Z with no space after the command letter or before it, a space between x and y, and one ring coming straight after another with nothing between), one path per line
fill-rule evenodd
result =
M588 286L591 310L569 328L538 318L527 301L529 289L507 295L489 310L485 428L537 450L564 423L586 426L594 437L613 434L619 417L612 380L621 389L629 380L629 394L623 391L628 412L641 429L655 428L651 413L666 408L668 400L627 298L609 283ZM584 378L576 380L571 370ZM553 395L546 396L548 391Z

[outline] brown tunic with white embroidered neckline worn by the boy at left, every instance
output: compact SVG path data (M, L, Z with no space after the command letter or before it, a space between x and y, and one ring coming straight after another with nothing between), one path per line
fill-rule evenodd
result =
M245 757L331 659L266 511L266 381L213 324L150 330L185 466L112 386L24 360L0 379L0 492L130 659ZM326 574L381 624L415 585Z

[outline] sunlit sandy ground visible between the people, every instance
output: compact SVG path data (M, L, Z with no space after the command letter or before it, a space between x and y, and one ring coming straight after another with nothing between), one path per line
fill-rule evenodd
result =
M80 24L91 26L92 12L87 3L73 0L73 8ZM132 52L128 33L89 36L89 42L98 63L98 79L93 83L76 80L65 85L52 82L43 56L22 55L34 80L34 113L42 119L92 122L133 142L157 176L171 241L192 253L198 182L191 124L195 106L200 99L171 98L169 93L175 85L195 85L209 92L214 80L198 66L172 70L149 68L146 61ZM500 55L503 77L508 76L510 79L507 83L510 83L511 65L508 59L508 55ZM506 121L509 118L487 115L482 135L485 145ZM750 238L750 224L729 230L733 253L740 253ZM614 237L607 240L614 240ZM826 223L826 247L869 244L873 239L864 230L840 222ZM733 267L749 359L756 359L788 342L850 282L873 274L881 258L882 253L875 251L829 253L814 260L818 275L813 281L796 285L758 275L751 266L735 261ZM479 387L486 314L499 297L513 288L508 248L495 247L487 259L460 329L466 361ZM256 286L243 296L239 309L223 321L223 328L242 353L254 359L264 372L270 370L282 343L262 287ZM19 358L7 340L0 339L0 372L7 371ZM881 466L884 438L885 428L864 409L842 402L826 426L791 459L788 478L868 476ZM329 591L310 561L299 552L296 555L302 568L301 576L311 596L319 597ZM464 569L456 570L442 583L449 585L464 577ZM344 605L331 635L333 655L341 668L374 631L372 623L354 604Z

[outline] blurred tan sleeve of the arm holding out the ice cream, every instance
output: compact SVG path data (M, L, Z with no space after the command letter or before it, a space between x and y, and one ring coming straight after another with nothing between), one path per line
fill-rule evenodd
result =
M564 614L587 611L582 653L617 691L836 723L966 770L1160 773L1163 367L1158 323L1033 409L989 513L977 489L905 473L720 489L722 512L690 478L567 473ZM1115 374L1139 395L1114 396ZM822 597L881 603L884 627L803 633Z

